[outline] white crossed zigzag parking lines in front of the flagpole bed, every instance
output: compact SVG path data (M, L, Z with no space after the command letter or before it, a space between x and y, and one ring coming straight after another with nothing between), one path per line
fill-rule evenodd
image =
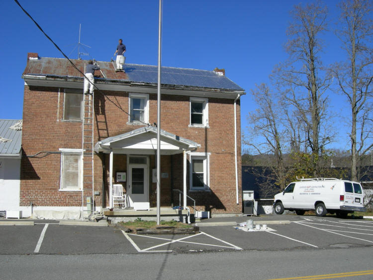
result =
M211 235L209 235L207 233L204 233L204 232L200 232L200 233L195 234L195 235L190 235L190 236L183 237L183 238L180 238L180 239L175 239L175 240L168 239L168 238L160 238L160 237L154 237L154 236L147 236L147 235L136 235L136 234L131 234L131 233L127 234L124 231L122 231L122 233L127 238L127 240L132 244L132 246L137 250L137 252L141 252L141 253L172 252L172 250L162 250L162 251L154 251L154 250L150 251L150 250L158 248L158 247L162 247L162 246L165 246L165 245L169 245L169 244L172 244L172 243L175 243L175 242L182 242L182 243L195 244L195 245L203 245L203 246L220 247L220 248L228 248L228 249L235 249L235 250L243 250L242 248L240 248L238 246L230 244L230 243L228 243L228 242L226 242L224 240L218 239L218 238L213 237L213 236L211 236ZM185 239L196 237L196 236L201 235L201 234L203 234L205 236L208 236L210 238L213 238L215 240L218 240L218 241L220 241L222 243L225 243L225 244L227 244L229 246L185 241ZM149 247L149 248L145 248L145 249L140 249L137 246L137 244L131 239L130 235L134 235L134 236L138 236L138 237L144 237L144 238L153 238L153 239L166 240L168 242L165 242L165 243L162 243L162 244L159 244L159 245L155 245L155 246L152 246L152 247Z

